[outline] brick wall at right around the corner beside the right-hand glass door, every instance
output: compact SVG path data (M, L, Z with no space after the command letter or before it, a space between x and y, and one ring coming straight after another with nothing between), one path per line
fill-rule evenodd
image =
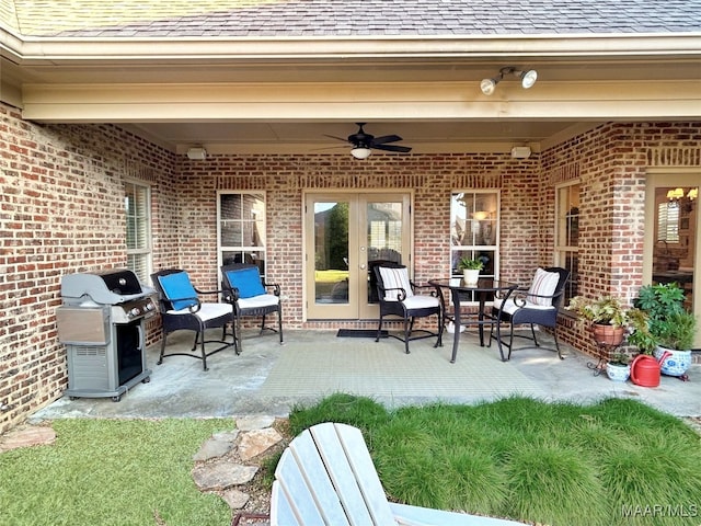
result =
M606 124L543 153L543 193L560 182L581 181L579 294L611 295L630 302L644 285L650 168L692 169L701 184L701 123ZM541 249L552 251L552 237ZM579 324L565 320L561 333L570 344L595 354Z

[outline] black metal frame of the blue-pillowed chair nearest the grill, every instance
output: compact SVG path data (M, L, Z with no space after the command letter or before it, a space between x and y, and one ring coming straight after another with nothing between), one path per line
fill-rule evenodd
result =
M151 274L151 282L153 283L153 286L156 287L156 290L158 291L158 296L159 296L159 310L161 315L161 330L162 330L161 353L159 355L159 359L157 364L161 365L163 363L163 358L168 356L189 356L192 358L202 359L202 366L204 370L208 370L207 358L212 354L223 351L225 348L229 348L232 345L234 347L235 354L237 355L241 354L241 351L237 346L235 338L232 340L231 343L226 341L227 325L229 323L233 325L233 321L234 321L233 309L231 309L231 313L227 313L226 316L219 316L217 318L212 318L209 320L203 320L197 316L197 312L200 310L204 304L199 299L199 297L169 298L165 291L163 290L163 287L161 286L161 283L159 282L158 278L160 276L168 276L170 274L176 274L180 272L185 272L185 271L181 268L166 268L166 270L162 270ZM193 286L193 288L195 287ZM221 294L221 290L199 290L197 288L195 288L195 291L198 295L203 295L203 296L215 295L218 297L219 294ZM189 300L189 299L194 300L195 305L193 305L192 307L188 307L187 313L177 313L177 315L169 313L169 311L174 310L173 301ZM219 329L219 328L221 328L222 330L221 340L205 340L206 329ZM197 350L197 344L199 344L199 347L200 347L199 355L191 354L191 353L182 353L182 352L172 352L172 353L165 354L165 339L168 334L175 331L181 331L181 330L195 332L195 341L193 343L191 353L194 353ZM205 347L207 343L221 343L222 345L220 345L219 347L212 351L207 352Z

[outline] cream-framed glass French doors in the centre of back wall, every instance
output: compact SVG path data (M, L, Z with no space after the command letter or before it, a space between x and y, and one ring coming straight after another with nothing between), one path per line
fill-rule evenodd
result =
M410 266L410 205L409 193L306 195L307 319L377 319L372 268Z

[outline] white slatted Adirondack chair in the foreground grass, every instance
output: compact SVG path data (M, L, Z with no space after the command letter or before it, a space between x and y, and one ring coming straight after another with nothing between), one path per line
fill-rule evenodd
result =
M275 470L272 526L507 526L512 521L395 504L360 430L326 422L297 436Z

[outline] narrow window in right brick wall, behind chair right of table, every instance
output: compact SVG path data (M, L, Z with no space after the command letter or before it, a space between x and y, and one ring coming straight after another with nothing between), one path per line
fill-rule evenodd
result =
M565 302L577 295L579 283L579 183L555 188L555 264L570 271L565 285Z

